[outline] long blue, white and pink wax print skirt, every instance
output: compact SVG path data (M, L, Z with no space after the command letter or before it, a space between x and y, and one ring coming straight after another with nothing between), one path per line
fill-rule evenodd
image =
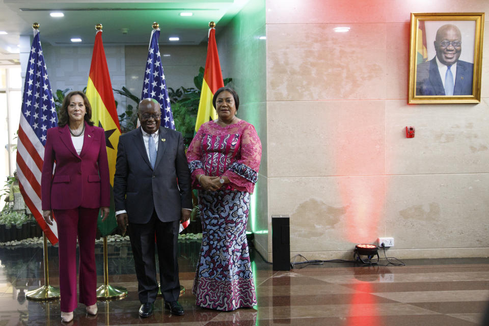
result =
M202 247L192 292L196 305L223 311L256 305L246 240L250 194L199 191Z

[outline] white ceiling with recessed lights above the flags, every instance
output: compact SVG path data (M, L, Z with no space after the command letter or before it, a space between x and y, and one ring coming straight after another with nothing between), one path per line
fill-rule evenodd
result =
M207 41L209 21L215 21L216 30L223 28L249 0L0 0L0 65L15 61L19 36L32 35L32 24L40 24L43 44L53 46L93 45L95 25L103 25L104 46L142 45L149 43L154 21L159 23L162 45L198 45ZM62 18L53 18L50 12L61 11ZM180 16L192 12L193 16ZM169 37L180 41L171 42ZM82 39L72 43L72 37ZM78 45L79 46L79 45Z

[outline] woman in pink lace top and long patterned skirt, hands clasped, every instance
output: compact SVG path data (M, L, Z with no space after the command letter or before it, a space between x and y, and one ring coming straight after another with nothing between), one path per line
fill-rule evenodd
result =
M192 291L198 306L231 311L256 305L246 224L261 143L253 125L236 117L232 88L216 91L212 104L218 119L200 127L187 151L203 230Z

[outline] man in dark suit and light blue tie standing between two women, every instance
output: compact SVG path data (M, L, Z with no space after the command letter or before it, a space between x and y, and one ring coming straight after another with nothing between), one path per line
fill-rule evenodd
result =
M178 303L177 240L180 221L190 218L191 177L182 134L160 126L160 105L154 99L139 103L141 127L121 135L114 176L117 223L128 225L141 302L139 315L153 313L158 292L155 235L160 289L165 307L183 315Z

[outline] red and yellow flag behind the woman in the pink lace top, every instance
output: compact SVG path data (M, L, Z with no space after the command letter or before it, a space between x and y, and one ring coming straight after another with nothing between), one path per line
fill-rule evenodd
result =
M209 121L217 119L215 108L212 106L212 97L215 91L224 87L221 64L219 63L218 47L215 44L215 29L209 29L209 43L207 45L207 58L205 60L204 80L200 94L199 111L195 123L195 132L200 126Z

